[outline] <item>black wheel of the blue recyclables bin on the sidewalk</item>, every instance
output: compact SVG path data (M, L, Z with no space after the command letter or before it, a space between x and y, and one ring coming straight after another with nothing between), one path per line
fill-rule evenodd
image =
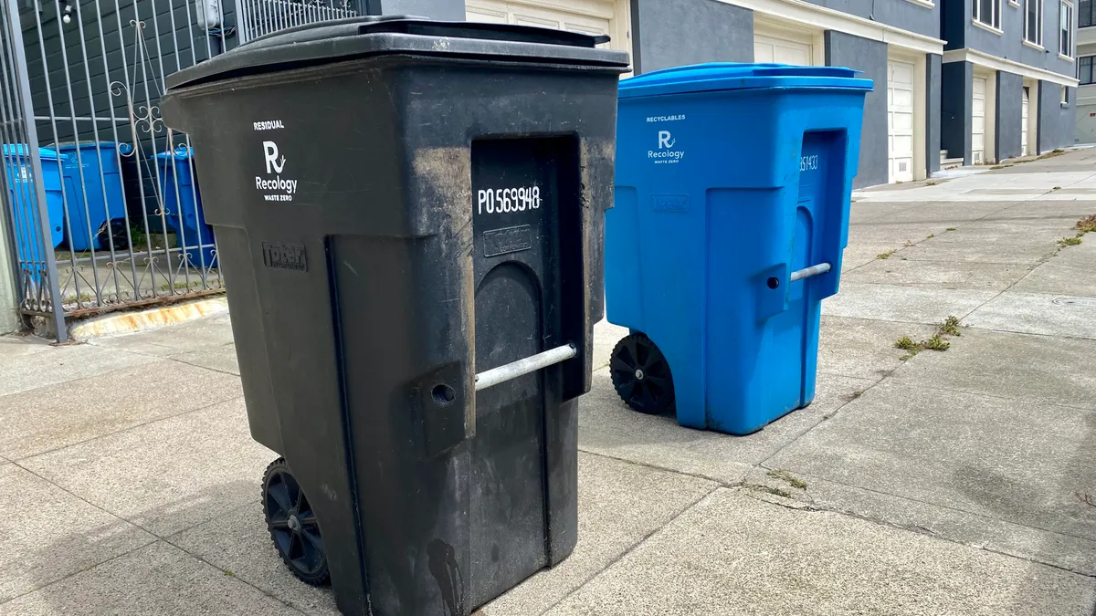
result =
M674 379L662 351L642 333L620 340L609 361L613 387L632 409L651 415L674 407Z

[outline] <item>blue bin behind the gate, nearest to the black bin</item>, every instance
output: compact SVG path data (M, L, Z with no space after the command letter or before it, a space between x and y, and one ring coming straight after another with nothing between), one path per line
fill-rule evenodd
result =
M187 146L156 155L156 168L163 191L163 210L168 226L180 236L180 246L185 249L186 261L191 266L201 267L204 264L206 267L216 267L213 227L206 225L202 210L202 195L197 190L191 160L193 156L194 150Z

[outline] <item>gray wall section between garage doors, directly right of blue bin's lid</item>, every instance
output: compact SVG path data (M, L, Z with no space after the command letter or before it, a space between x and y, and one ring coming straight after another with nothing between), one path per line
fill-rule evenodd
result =
M904 0L903 0L904 1ZM844 66L864 71L875 82L875 90L864 100L864 126L860 132L860 167L855 187L886 184L887 159L887 44L842 32L825 32L826 66Z

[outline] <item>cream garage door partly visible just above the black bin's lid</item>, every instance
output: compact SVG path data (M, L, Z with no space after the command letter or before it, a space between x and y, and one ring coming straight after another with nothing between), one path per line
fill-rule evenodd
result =
M581 32L608 34L613 42L601 47L631 52L626 14L618 14L618 0L467 0L470 22L513 23Z

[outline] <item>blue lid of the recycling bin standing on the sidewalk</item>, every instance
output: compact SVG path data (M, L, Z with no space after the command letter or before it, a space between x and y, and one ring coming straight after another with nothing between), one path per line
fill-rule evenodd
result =
M870 79L843 67L709 62L648 72L620 81L620 98L763 88L871 90Z

